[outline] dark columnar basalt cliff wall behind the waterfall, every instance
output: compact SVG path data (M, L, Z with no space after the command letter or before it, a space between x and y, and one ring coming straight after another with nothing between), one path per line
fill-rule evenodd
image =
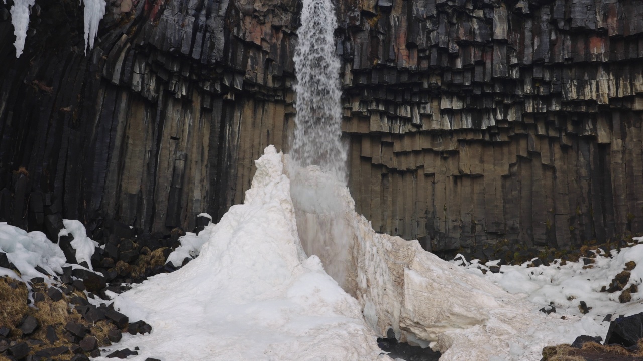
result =
M0 220L194 227L293 132L297 0L0 4ZM643 3L341 0L349 185L374 229L446 251L643 231ZM20 170L24 167L24 170Z

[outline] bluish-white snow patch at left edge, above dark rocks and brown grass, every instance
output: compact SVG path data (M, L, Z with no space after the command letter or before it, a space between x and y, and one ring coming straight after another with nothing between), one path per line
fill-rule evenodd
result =
M48 279L48 276L35 267L41 267L49 274L62 274L62 267L65 265L64 253L57 244L51 243L44 233L27 233L6 222L0 222L0 252L6 253L6 258L21 274L18 276L14 271L0 267L0 276L22 279L25 283L33 277Z

